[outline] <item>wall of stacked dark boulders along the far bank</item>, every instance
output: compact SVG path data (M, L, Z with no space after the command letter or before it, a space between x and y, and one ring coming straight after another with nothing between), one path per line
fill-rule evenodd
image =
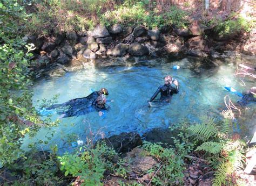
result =
M254 55L255 33L252 32L252 35L247 35L246 38L238 41L236 46L239 47L234 50L240 49L246 54ZM200 25L198 20L194 20L187 30L179 30L175 26L165 26L161 30L146 30L140 25L125 28L121 25L113 25L110 28L98 25L94 30L83 33L55 33L46 38L37 38L33 35L25 37L26 42L32 42L36 47L32 70L49 71L45 67L57 63L60 74L65 73L64 66L77 59L109 60L122 56L129 58L180 54L219 58L219 52L223 51L232 39L234 38L228 36L215 37L214 31ZM243 42L242 47L240 45ZM75 64L75 69L78 66L82 64Z

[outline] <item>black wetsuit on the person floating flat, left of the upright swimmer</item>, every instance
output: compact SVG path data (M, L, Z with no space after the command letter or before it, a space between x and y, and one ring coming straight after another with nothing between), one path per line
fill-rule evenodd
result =
M60 108L63 111L58 111L57 113L59 115L65 114L64 118L85 115L93 110L108 110L109 108L106 105L103 105L103 107L99 107L97 105L96 99L99 95L101 95L101 93L99 91L95 91L89 96L71 99L70 101L62 104L55 104L46 108L46 110Z

